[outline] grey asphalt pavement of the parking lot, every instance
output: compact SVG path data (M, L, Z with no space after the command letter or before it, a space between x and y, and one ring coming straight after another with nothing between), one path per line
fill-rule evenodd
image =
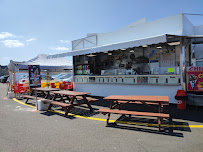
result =
M187 117L183 112L171 112L173 124L188 127L165 128L158 132L158 128L152 126L120 123L106 126L102 121L106 116L96 112L99 108L108 108L103 100L93 104L94 113L85 106L71 110L87 118L64 117L6 99L6 90L7 85L0 84L0 152L203 151L202 108L188 108ZM170 108L166 111L170 112ZM118 115L112 115L111 119L127 120ZM134 117L133 121L156 123L155 119L143 117Z

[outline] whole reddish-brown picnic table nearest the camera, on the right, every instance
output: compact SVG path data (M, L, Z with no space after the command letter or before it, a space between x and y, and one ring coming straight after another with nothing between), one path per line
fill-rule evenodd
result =
M98 112L102 114L108 114L107 117L107 125L109 123L110 114L122 114L122 115L136 115L136 116L147 116L147 117L157 117L158 119L158 126L159 131L161 130L161 121L163 118L169 119L169 114L161 113L161 108L164 105L169 104L169 98L168 96L128 96L128 95L111 95L106 98L106 100L111 101L110 109L100 109ZM154 112L137 112L137 111L127 111L127 110L120 110L121 104L127 104L127 103L138 103L138 104L144 104L144 105L158 105L158 113ZM119 110L116 110L116 108L119 108Z

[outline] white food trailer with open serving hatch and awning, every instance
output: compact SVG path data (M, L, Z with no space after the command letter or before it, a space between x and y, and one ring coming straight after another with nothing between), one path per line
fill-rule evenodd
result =
M202 40L203 25L178 14L87 34L72 41L72 52L49 58L73 56L74 90L95 96L162 95L176 103L177 90L187 90L186 67L203 58Z

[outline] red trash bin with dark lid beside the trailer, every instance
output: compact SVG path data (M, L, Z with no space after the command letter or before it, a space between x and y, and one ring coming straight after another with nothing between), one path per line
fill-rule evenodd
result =
M185 110L187 101L187 94L185 90L178 90L175 99L177 100L177 109Z

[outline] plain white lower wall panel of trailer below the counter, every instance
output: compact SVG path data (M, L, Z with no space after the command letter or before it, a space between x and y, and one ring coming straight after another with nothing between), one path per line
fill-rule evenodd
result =
M91 95L101 97L121 94L169 96L169 102L176 103L175 95L177 90L181 89L181 86L74 83L74 88L75 91L89 92Z

